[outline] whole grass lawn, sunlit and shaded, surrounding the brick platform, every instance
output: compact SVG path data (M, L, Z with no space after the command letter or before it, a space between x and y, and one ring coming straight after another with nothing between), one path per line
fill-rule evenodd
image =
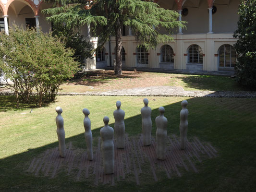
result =
M207 159L197 168L199 173L185 172L181 178L163 177L158 182L146 180L136 186L124 181L116 186L98 186L75 181L66 175L35 177L25 172L27 164L44 152L56 147L55 107L63 109L66 142L85 148L83 108L90 110L93 136L99 135L103 117L110 117L113 127L115 102L125 110L125 130L129 135L141 132L140 108L143 97L58 96L55 103L43 108L15 108L14 97L0 96L0 191L173 191L173 192L251 192L256 189L256 102L246 98L148 97L152 108L152 134L158 107L166 109L168 134L179 134L180 103L188 100L188 138L199 137L218 149L219 156ZM24 166L26 165L26 166Z

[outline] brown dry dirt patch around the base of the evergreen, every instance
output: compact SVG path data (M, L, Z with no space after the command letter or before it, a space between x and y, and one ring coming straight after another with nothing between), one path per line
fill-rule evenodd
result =
M81 93L81 91L109 91L161 86L168 84L169 78L166 76L165 74L161 76L159 73L123 71L122 76L117 78L114 71L101 71L88 73L78 80L68 81L61 85L61 88L67 90L68 85L83 85L76 87L76 92Z

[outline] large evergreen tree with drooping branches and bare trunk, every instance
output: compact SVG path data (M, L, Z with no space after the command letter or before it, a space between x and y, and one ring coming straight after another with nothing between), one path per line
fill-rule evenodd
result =
M170 42L173 38L159 33L165 28L170 34L174 27L183 27L177 21L179 14L160 8L152 0L48 0L56 8L44 10L48 21L65 23L70 27L91 24L95 33L98 29L99 48L109 40L116 38L116 74L122 74L122 26L129 26L139 46L156 48L160 42Z

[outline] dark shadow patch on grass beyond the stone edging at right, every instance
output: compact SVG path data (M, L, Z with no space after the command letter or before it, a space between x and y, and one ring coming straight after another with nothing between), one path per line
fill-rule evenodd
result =
M181 79L185 83L184 88L210 91L249 91L239 85L234 78L225 76L190 75L175 78Z

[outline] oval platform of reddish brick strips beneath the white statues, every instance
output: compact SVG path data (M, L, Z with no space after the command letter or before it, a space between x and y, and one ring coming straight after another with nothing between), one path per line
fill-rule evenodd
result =
M88 160L86 152L77 154L71 143L66 146L65 158L60 157L58 147L47 150L42 156L32 160L27 171L36 176L53 178L58 177L58 172L65 170L66 174L72 175L75 180L88 180L95 185L115 185L115 182L129 177L129 180L134 180L139 185L143 174L147 174L147 180L152 181L159 180L160 171L164 171L168 178L181 177L183 170L198 172L196 162L217 156L217 151L211 144L201 143L196 137L187 142L185 150L181 150L179 138L171 135L168 136L166 160L159 160L156 157L155 138L152 138L151 145L143 146L142 137L128 138L126 135L125 148L114 150L114 174L106 175L103 174L99 137L92 161Z

